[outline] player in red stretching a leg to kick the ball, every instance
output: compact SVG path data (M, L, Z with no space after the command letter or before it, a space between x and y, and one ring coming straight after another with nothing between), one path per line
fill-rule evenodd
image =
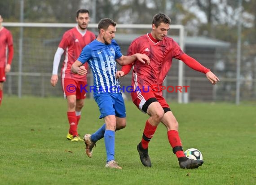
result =
M216 84L219 79L194 58L186 55L172 38L166 36L170 23L171 19L165 14L154 15L151 33L133 40L128 48L128 55L142 53L150 58L150 65L141 65L136 61L133 63L132 70L134 88L134 92L131 93L132 101L140 110L150 115L137 150L141 163L146 167L151 167L148 145L159 123L163 123L167 128L168 140L173 153L178 158L180 167L192 169L201 166L203 160L191 160L185 157L178 133L178 122L164 99L162 90L156 87L161 87L163 84L172 66L172 58L177 58L190 68L206 74L212 84ZM119 72L117 77L128 74L131 68L132 65L123 66L122 72ZM141 90L136 90L138 88Z

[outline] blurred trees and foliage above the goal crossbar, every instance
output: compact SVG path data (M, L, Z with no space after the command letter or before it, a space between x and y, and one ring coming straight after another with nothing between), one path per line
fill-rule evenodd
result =
M117 23L150 24L155 13L166 13L172 24L186 26L187 35L237 40L242 11L242 40L256 43L256 0L24 0L24 22L75 22L79 8L89 9L91 22L112 18ZM0 1L5 22L20 21L20 0Z

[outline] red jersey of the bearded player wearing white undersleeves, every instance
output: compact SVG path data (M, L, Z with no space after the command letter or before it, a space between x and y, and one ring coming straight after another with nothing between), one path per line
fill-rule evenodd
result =
M79 81L87 81L86 75L77 75L71 72L72 64L79 57L84 46L95 40L95 35L91 31L86 31L84 36L74 27L66 31L59 44L59 48L65 50L65 60L62 66L62 79L76 79ZM88 63L84 64L88 70Z

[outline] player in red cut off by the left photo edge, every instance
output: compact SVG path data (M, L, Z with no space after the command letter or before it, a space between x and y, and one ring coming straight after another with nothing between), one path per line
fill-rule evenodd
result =
M5 73L11 70L13 60L13 36L9 30L2 26L2 22L3 18L0 15L0 106L3 99L3 86L6 80Z

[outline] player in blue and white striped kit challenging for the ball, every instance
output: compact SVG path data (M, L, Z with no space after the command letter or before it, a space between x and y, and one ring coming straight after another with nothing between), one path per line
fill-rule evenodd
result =
M131 56L124 56L113 38L116 32L116 23L109 19L102 19L98 24L97 39L86 45L79 58L72 65L72 72L85 75L87 70L82 66L88 62L94 79L93 97L100 110L100 119L104 118L105 124L93 135L85 134L84 142L86 154L92 157L93 146L96 141L104 137L106 146L106 167L122 169L115 162L115 131L125 128L126 112L124 99L119 90L121 71L117 71L116 62L121 66L139 60L149 64L150 60L145 54L136 53Z

